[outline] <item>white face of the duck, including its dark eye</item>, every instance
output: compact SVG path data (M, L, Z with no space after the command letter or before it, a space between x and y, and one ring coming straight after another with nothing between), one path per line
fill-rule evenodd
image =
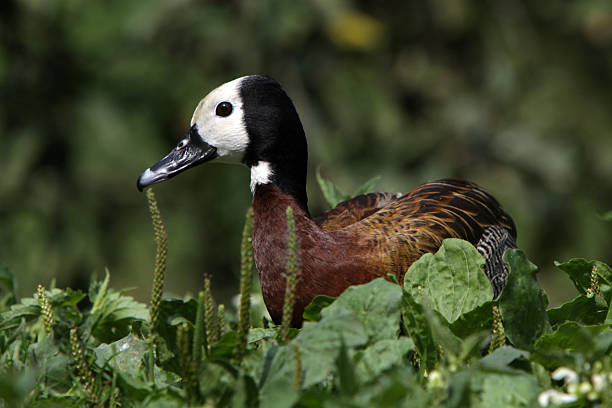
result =
M219 158L240 160L249 144L240 85L234 79L211 91L200 101L191 118L202 140L217 148Z

